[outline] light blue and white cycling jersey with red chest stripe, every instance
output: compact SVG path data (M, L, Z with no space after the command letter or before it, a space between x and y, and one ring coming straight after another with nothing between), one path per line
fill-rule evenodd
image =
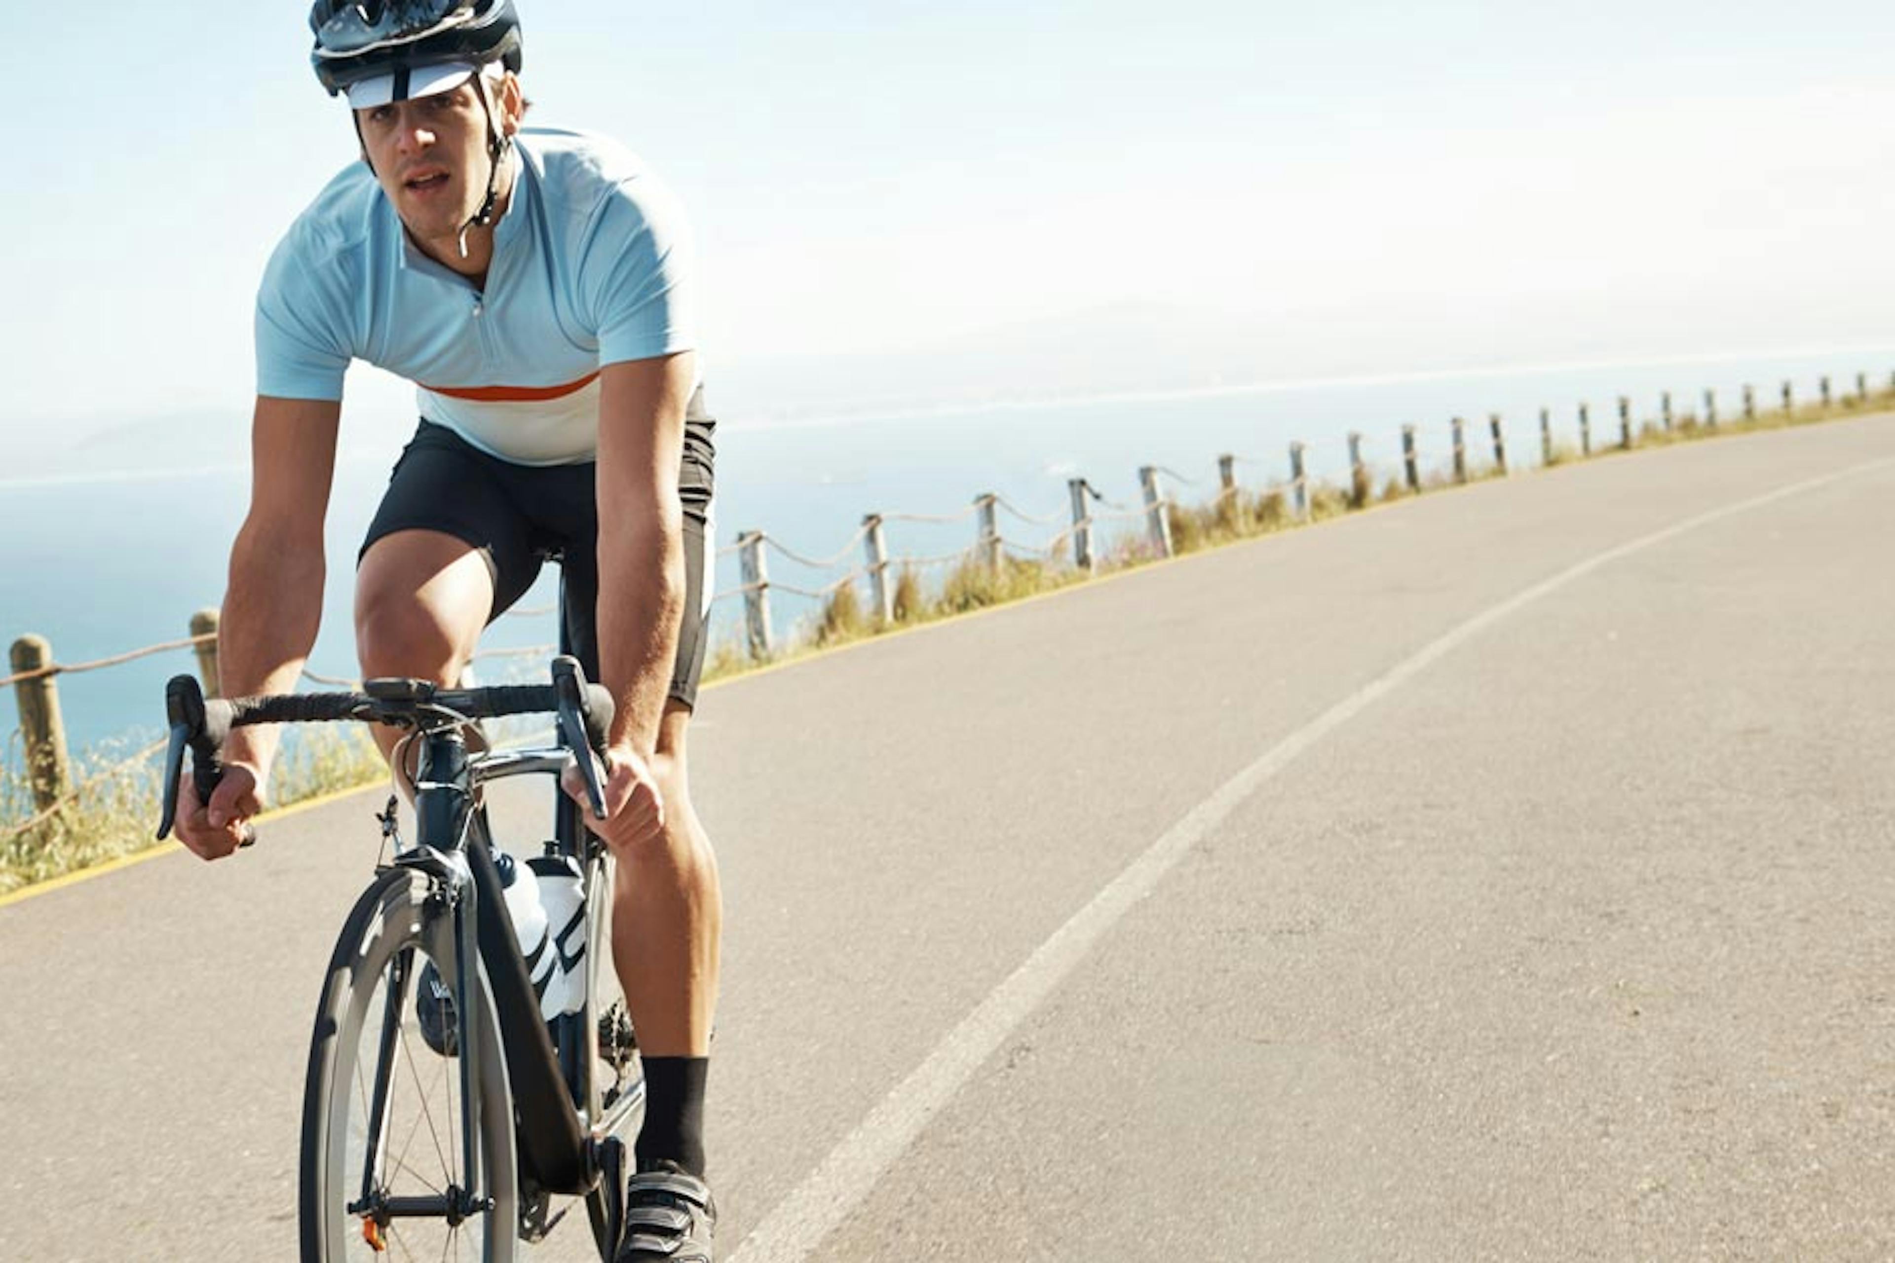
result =
M407 239L352 163L284 235L256 299L256 390L341 400L351 360L415 382L421 415L519 464L591 460L599 369L695 347L671 191L618 144L523 129L487 288Z

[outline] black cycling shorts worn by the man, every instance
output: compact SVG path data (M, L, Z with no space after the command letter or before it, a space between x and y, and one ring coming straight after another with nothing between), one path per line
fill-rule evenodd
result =
M703 409L703 388L692 394L684 415L684 460L678 466L678 502L684 509L684 619L678 627L678 659L671 672L671 697L697 704L697 678L705 667L705 615L711 579L711 466L716 458L716 420ZM383 492L375 521L362 540L360 564L383 536L396 530L440 530L479 549L493 576L493 612L506 614L548 557L561 557L567 581L567 642L599 678L599 509L597 466L523 466L479 451L447 426L426 417L402 449Z

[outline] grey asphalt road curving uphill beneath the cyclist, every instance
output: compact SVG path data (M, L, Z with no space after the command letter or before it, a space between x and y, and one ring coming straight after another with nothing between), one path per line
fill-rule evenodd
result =
M713 689L726 1255L1895 1255L1891 540L1876 417ZM0 1257L294 1255L375 805L0 909Z

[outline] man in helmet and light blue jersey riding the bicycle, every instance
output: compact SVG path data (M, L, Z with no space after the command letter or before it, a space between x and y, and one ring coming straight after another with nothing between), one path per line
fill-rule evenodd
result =
M701 1117L722 905L684 737L714 422L688 229L614 142L521 125L514 0L316 0L309 23L362 161L296 220L258 294L222 691L290 691L315 644L345 369L413 381L421 424L356 560L362 676L457 682L481 629L544 557L563 559L574 651L618 701L608 810L586 814L618 858L614 954L648 1093L618 1259L709 1263ZM396 738L377 729L385 756ZM243 727L208 803L184 778L184 845L207 860L243 845L273 757L273 729ZM567 788L580 797L576 778Z

